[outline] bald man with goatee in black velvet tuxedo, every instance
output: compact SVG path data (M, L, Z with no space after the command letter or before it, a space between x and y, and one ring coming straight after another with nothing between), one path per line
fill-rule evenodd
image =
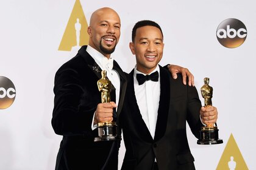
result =
M113 109L119 115L126 92L126 73L121 70L111 53L120 37L121 21L118 13L110 8L98 9L91 15L88 46L82 46L77 55L63 64L55 74L54 110L52 127L62 135L55 170L60 169L118 169L120 141L98 141L96 124L113 120ZM186 73L193 82L193 75L179 66L176 72ZM101 70L107 71L112 82L116 101L101 103L97 81ZM183 81L184 82L184 81ZM121 135L121 132L118 132Z

